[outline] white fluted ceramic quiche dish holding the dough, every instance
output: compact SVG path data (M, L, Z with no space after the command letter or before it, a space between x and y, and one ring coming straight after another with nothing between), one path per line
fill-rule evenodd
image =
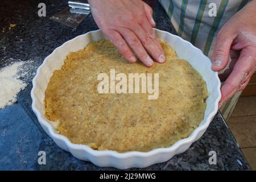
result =
M155 29L155 33L159 39L162 39L175 50L179 59L187 60L192 67L200 73L207 85L209 96L206 100L207 106L204 119L200 122L199 126L193 130L189 137L178 140L172 146L155 148L148 152L129 151L119 153L110 150L93 150L85 144L72 143L64 135L60 135L55 130L55 122L49 121L45 116L44 97L48 82L53 72L62 67L64 59L69 52L84 49L90 42L106 39L100 30L96 30L77 36L56 48L51 55L44 59L43 64L38 68L36 76L32 81L32 110L38 117L38 121L44 131L55 141L57 146L65 151L71 152L71 154L78 159L90 161L100 167L115 167L119 169L131 167L144 168L155 163L166 162L171 159L172 156L184 152L193 142L204 134L214 115L217 113L218 101L221 98L221 84L218 75L210 69L211 61L200 49L169 32Z

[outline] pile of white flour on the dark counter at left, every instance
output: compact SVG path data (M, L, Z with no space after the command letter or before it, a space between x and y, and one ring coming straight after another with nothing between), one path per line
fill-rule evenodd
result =
M26 88L27 84L19 79L19 68L25 62L14 63L0 70L0 109L17 101L17 94Z

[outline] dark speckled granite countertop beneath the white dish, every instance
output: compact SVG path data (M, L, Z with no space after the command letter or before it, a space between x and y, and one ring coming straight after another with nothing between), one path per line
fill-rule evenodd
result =
M38 16L38 4L46 3L46 17ZM105 170L61 150L40 127L31 109L32 77L44 58L69 39L98 29L92 15L76 29L49 19L67 7L67 1L3 1L0 6L0 68L15 61L31 61L27 88L18 94L18 102L0 110L1 170ZM154 6L156 28L176 34L163 8ZM9 30L10 23L16 27ZM4 29L3 29L4 28ZM46 152L46 165L38 164L38 152ZM217 164L209 164L209 151L216 151ZM236 140L218 112L207 131L183 154L146 170L249 170ZM129 169L129 170L134 170Z

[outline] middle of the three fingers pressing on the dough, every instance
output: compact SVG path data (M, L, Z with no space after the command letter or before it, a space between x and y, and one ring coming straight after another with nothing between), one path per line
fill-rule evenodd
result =
M135 52L138 58L144 63L147 67L151 67L154 64L152 58L147 54L146 50L142 46L141 41L134 34L133 31L127 28L120 28L119 32L125 38L126 42L129 44L131 49Z

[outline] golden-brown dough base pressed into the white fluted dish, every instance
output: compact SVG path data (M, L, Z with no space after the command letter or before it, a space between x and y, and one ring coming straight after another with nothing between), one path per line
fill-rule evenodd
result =
M95 150L150 151L188 137L204 118L208 96L201 75L160 42L166 63L147 68L134 64L108 40L70 52L53 72L44 98L46 117L73 143ZM148 94L99 94L100 73L159 73L159 97Z

